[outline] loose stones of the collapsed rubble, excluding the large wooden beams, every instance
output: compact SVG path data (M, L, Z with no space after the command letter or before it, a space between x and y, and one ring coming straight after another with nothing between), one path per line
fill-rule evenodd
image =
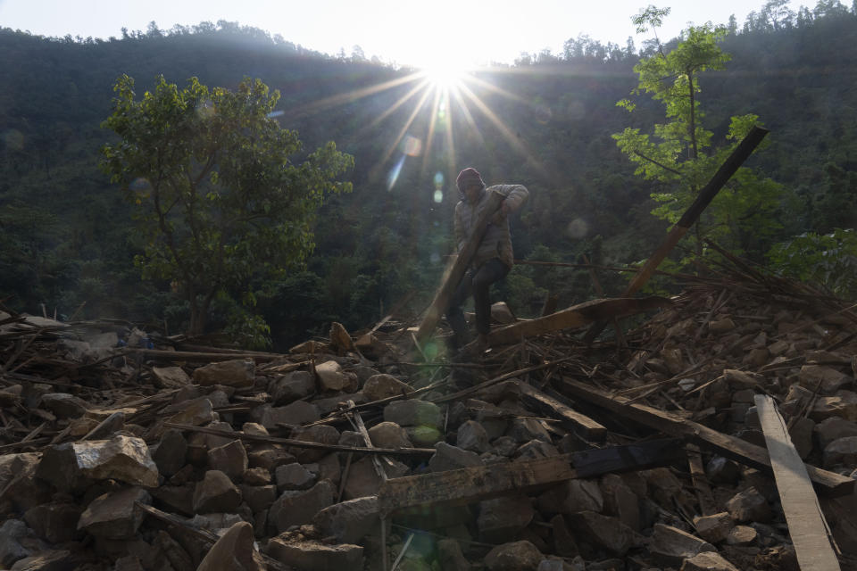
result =
M554 356L577 352L587 363L579 378L630 396L661 384L642 402L761 446L753 396L770 393L803 459L857 477L855 322L770 295L698 290L633 332L632 352L607 355L571 343ZM384 479L655 435L634 434L629 421L587 408L616 431L606 443L587 443L550 411L523 406L512 383L445 401L445 394L532 363L489 374L453 368L445 386L429 386L434 373L409 366L404 345L396 345L393 334L403 330L352 340L337 324L329 341L302 343L285 356L237 352L207 365L124 358L121 367L103 365L101 374L111 380L101 392L79 377L55 385L13 378L0 387L7 425L0 441L0 566L378 569L382 557L389 568L401 555L399 569L430 571L796 568L773 478L705 449L711 506L704 509L684 461L469 506L429 506L383 520L381 534ZM62 343L64 354L78 356L89 354L85 345ZM499 365L512 357L492 348L478 362ZM515 358L525 357L543 359ZM132 373L135 385L121 382ZM545 377L520 374L514 381L551 390ZM349 401L357 408L349 409ZM359 412L365 433L343 410ZM31 444L18 443L43 424ZM334 448L368 445L425 453L385 457ZM850 549L857 543L857 523L849 518L857 501L843 502L829 521ZM154 517L152 509L180 525ZM844 568L854 562L847 550L843 557Z

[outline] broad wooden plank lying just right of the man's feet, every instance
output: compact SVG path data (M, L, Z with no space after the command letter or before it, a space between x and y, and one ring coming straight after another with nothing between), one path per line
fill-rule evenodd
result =
M544 318L519 321L495 329L488 334L488 343L491 345L518 343L525 337L543 335L562 329L584 327L603 319L627 317L669 305L670 300L658 296L591 300L573 305L566 310L557 311Z

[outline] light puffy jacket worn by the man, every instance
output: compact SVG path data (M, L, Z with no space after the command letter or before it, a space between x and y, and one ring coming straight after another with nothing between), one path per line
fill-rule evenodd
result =
M483 188L475 204L470 204L466 196L462 197L462 201L455 205L455 241L458 243L459 252L462 251L464 243L470 236L479 212L486 206L486 199L490 192L503 194L506 197L505 203L509 205L512 212L520 210L520 207L527 202L529 197L529 191L522 185L495 185ZM492 258L499 258L509 268L512 268L515 259L514 254L512 254L509 220L503 216L500 210L497 210L494 218L488 224L485 236L482 238L476 256L473 258L473 267L478 268Z

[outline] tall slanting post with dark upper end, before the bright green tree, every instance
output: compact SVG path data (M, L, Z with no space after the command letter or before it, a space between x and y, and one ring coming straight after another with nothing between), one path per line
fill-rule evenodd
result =
M661 247L659 247L653 254L652 257L649 258L643 268L641 268L637 272L637 276L631 280L631 283L628 284L628 287L625 289L625 293L622 294L622 297L630 297L631 295L637 293L637 291L645 285L649 278L653 276L654 270L658 269L658 266L661 265L661 261L663 261L672 249L678 244L678 240L685 236L687 230L689 230L699 216L703 213L703 211L711 204L711 201L714 200L714 197L717 196L717 193L720 192L720 188L722 188L728 182L729 178L732 178L732 175L736 173L736 170L744 164L757 146L761 143L761 140L768 135L770 131L766 128L761 127L753 127L750 129L750 132L747 133L747 136L744 137L744 140L736 147L735 151L729 155L728 159L720 165L720 169L714 173L714 176L711 177L711 180L707 185L703 187L701 191L699 191L699 195L696 196L696 200L690 207L685 211L684 215L681 219L678 220L676 225L672 227L670 230L670 234L664 239ZM592 343L595 337L598 336L604 330L604 326L606 324L603 322L595 323L592 327L589 327L587 331L587 335L584 336L584 340L587 343Z

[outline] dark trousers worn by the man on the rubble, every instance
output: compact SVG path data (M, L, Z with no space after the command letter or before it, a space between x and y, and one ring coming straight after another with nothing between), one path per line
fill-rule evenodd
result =
M488 260L477 269L469 269L462 283L453 294L446 310L446 320L455 334L455 344L461 347L467 344L470 335L467 332L467 320L464 319L462 304L473 294L473 303L476 305L476 330L485 334L491 330L491 299L488 291L491 284L500 281L509 273L509 267L497 258Z

